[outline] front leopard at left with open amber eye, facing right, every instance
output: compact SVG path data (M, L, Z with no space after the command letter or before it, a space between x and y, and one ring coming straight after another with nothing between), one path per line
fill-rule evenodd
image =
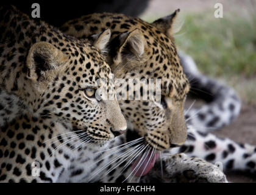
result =
M101 53L110 34L86 43L11 5L0 7L0 34L0 107L10 115L0 131L0 182L56 182L124 133Z

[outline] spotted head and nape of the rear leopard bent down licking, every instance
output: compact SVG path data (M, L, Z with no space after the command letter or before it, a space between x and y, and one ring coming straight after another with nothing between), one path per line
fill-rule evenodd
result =
M68 21L61 28L92 42L94 34L109 28L112 37L106 59L117 78L161 79L162 104L153 107L155 102L151 100L119 101L126 119L158 151L183 144L187 137L183 104L190 87L171 35L177 12L152 24L122 14L95 13ZM119 87L131 88L129 83ZM138 96L142 98L143 91Z

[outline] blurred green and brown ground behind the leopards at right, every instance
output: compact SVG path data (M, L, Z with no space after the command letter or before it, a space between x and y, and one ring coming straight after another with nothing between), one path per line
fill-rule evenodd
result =
M223 18L215 18L215 4L223 5ZM209 77L238 92L240 116L230 126L213 132L241 143L256 144L256 1L255 0L151 0L140 18L152 22L180 8L174 36L178 49L195 60ZM241 173L228 174L230 182L256 182Z

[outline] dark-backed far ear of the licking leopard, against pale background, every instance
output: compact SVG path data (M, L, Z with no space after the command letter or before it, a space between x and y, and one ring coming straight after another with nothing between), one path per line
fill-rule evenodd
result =
M174 21L177 18L177 13L180 12L180 9L175 10L171 15L165 16L155 20L152 25L157 27L160 32L165 34L167 37L172 37L174 32Z

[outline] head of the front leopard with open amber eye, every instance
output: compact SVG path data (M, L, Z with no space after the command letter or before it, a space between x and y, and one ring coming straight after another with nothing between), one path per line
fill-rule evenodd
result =
M100 46L109 37L110 32L98 40ZM100 144L126 130L116 97L107 98L106 92L115 92L109 90L114 84L111 69L93 45L35 43L29 49L26 70L20 94L35 116L57 118Z

